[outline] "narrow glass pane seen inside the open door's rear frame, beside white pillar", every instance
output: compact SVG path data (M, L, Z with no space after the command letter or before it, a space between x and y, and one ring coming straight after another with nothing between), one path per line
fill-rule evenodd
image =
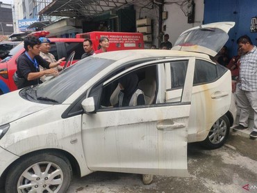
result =
M170 63L172 89L183 88L185 75L188 69L188 61L172 61Z

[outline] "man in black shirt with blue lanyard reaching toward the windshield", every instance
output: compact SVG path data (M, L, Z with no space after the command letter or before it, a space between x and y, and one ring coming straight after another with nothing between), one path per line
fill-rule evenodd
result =
M44 75L58 75L58 71L53 69L60 65L64 59L50 63L40 56L40 40L33 36L24 38L24 48L26 52L19 56L17 60L17 71L13 76L17 88L24 88L34 84L40 84L40 77ZM40 71L39 65L47 70Z

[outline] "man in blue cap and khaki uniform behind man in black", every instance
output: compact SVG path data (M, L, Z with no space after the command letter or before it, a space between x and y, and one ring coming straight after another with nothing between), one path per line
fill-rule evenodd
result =
M50 53L50 49L51 49L51 41L48 38L38 38L40 40L40 56L45 59L46 61L49 61L50 63L55 63L56 62L56 58L53 56L53 54ZM54 68L56 70L58 70L58 72L60 72L63 68L58 65L56 68ZM43 68L40 65L40 70L46 70L46 68ZM46 81L47 79L49 79L50 77L52 77L52 75L44 75L42 77L40 77L40 79L42 80L42 82Z

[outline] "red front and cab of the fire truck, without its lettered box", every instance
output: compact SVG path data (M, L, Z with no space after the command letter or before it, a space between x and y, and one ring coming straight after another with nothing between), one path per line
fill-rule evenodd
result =
M47 31L37 31L35 33L30 33L28 36L47 36L49 32ZM73 51L75 51L74 62L81 59L84 53L83 49L83 38L49 38L51 40L51 50L50 53L55 56L56 60L65 57L67 59ZM23 42L10 50L10 53L0 61L0 95L8 93L10 91L17 90L17 86L13 81L13 74L17 70L17 59L21 54L25 52ZM64 65L63 62L61 65Z

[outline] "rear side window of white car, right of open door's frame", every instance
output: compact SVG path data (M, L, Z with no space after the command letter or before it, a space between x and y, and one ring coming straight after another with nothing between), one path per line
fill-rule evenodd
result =
M217 65L204 60L196 60L194 67L194 86L206 84L217 79Z

